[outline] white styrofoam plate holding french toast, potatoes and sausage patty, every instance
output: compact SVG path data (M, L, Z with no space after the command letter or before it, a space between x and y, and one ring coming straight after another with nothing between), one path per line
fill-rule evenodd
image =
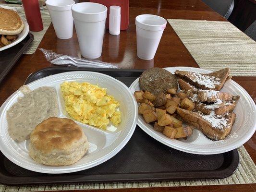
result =
M192 67L168 67L164 69L171 73L174 73L176 70L202 73L210 72ZM133 93L140 90L139 78L134 81L130 89ZM237 106L234 109L236 113L235 123L232 126L231 133L224 140L212 141L202 132L195 129L187 140L170 139L162 133L155 131L152 125L145 122L142 115L138 117L138 125L148 135L162 144L187 153L210 155L231 151L247 142L254 134L256 130L256 105L244 88L232 80L227 81L220 91L231 93L234 96L240 96Z

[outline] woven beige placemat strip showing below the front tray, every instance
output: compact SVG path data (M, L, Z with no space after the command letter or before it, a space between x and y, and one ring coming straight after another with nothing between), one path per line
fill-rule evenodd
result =
M0 185L1 192L34 192L58 190L85 190L85 189L121 189L143 187L172 187L196 185L227 185L256 183L256 166L245 150L238 148L240 165L236 172L225 179L219 180L179 180L179 181L148 181L148 182L112 182L112 183L74 183L63 185L36 185L36 186L5 186Z

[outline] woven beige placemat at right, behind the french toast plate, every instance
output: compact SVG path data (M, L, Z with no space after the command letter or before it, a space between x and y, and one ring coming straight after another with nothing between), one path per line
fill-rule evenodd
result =
M256 42L230 22L168 19L200 68L256 75Z

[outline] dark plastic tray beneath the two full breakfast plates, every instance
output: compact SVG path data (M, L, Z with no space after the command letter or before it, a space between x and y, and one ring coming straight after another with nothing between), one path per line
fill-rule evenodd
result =
M32 73L25 84L48 75L68 71L94 71L111 75L127 86L139 77L142 70L81 69L51 67ZM97 167L68 174L44 174L21 168L0 154L0 182L9 185L220 179L234 173L239 165L237 150L218 155L184 153L148 136L138 126L126 146L114 157Z

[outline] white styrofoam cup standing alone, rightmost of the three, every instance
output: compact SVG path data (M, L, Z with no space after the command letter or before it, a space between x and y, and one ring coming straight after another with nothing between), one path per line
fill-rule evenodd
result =
M157 15L143 14L135 18L137 56L140 59L154 58L166 23L166 19Z

